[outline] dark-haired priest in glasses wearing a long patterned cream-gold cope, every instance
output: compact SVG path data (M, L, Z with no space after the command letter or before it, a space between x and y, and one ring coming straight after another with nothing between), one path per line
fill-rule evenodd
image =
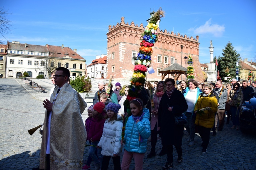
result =
M46 108L41 143L40 169L81 169L86 130L81 114L87 107L81 95L68 84L70 72L59 67L53 75L56 88Z

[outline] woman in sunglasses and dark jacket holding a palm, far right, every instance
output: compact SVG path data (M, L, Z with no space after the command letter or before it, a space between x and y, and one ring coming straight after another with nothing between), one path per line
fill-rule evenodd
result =
M242 92L242 89L240 88L239 83L233 84L233 89L229 93L229 105L231 114L232 114L232 119L233 119L233 126L231 129L237 129L239 130L239 112L240 112L240 107L243 104L243 99L244 99L244 94Z

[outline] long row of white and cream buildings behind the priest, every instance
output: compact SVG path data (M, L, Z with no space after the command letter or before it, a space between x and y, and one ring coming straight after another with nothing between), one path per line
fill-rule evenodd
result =
M7 42L6 78L19 78L24 72L29 77L38 75L50 77L57 67L66 67L71 76L85 75L86 60L69 47L21 44Z

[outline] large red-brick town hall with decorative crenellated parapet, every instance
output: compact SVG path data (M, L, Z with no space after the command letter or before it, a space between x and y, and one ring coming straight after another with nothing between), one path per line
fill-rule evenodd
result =
M133 74L134 60L137 59L144 26L121 23L111 27L107 33L107 78L130 79ZM158 28L158 41L153 46L151 66L155 73L147 74L147 80L161 80L159 71L174 64L185 67L184 57L191 55L193 59L194 76L198 81L204 80L199 63L199 36L196 39L187 35L174 34L173 32L160 31ZM182 48L181 48L182 47ZM188 66L188 65L187 65ZM185 75L182 75L183 80ZM181 78L179 78L181 79Z

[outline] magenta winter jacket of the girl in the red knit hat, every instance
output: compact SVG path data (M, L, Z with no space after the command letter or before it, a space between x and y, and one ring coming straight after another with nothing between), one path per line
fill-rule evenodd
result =
M103 113L101 113L101 114L103 114ZM103 114L103 116L104 116L104 114ZM105 120L106 119L97 120L97 117L92 118L92 122L91 122L90 129L88 132L89 140L92 138L93 141L100 141Z

